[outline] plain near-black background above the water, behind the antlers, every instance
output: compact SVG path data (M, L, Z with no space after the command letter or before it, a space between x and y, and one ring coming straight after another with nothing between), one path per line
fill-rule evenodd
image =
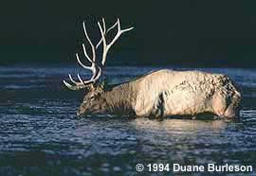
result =
M108 26L119 17L123 27L136 27L119 39L108 64L255 67L256 3L236 0L9 1L0 10L0 63L75 62L85 41L82 21L96 42L102 16Z

